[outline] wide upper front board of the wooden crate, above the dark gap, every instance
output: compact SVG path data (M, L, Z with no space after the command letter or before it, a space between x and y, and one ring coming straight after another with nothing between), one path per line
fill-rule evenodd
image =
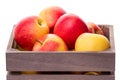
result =
M114 53L9 53L8 71L114 71Z

